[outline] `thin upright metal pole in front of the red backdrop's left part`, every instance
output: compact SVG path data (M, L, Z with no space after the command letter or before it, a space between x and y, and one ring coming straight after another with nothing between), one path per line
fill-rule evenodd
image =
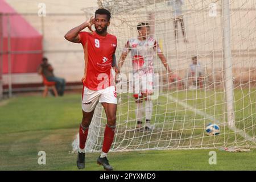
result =
M7 15L7 30L8 30L8 85L9 85L9 97L12 97L12 87L11 87L11 23L10 15Z

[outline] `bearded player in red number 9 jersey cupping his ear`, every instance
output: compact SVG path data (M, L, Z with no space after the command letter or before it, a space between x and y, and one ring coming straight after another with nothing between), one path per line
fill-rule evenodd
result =
M85 142L90 122L98 102L104 107L107 124L104 133L104 142L101 155L97 163L106 170L113 170L110 166L107 153L112 145L115 134L115 119L117 111L117 93L112 82L111 69L119 72L115 61L117 38L107 32L111 14L106 9L98 9L94 18L86 20L80 26L68 31L65 39L73 43L81 43L84 48L85 69L82 82L82 122L79 129L79 152L77 167L85 168ZM92 31L92 25L96 31ZM88 27L92 32L82 32Z

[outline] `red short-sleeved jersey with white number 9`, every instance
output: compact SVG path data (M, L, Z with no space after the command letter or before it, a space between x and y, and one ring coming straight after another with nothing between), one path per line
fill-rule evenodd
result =
M79 35L85 60L83 84L90 90L107 88L113 78L111 68L117 38L111 34L100 36L95 31L80 32Z

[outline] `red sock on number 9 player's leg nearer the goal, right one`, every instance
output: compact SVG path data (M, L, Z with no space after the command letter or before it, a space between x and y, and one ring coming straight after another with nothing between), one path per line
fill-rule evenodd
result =
M102 146L102 152L108 153L115 135L115 127L109 127L106 125L104 133L104 141Z

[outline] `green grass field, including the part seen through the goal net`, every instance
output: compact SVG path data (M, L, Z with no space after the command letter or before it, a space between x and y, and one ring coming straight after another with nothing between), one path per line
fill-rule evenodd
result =
M221 135L204 137L204 125L209 119L188 108L184 109L166 96L160 96L159 100L154 101L155 114L152 120L155 121L155 133L151 136L137 134L132 130L135 126L135 104L129 102L133 101L130 95L122 94L114 148L122 149L127 147L127 144L127 149L156 146L216 148L110 152L108 158L115 170L256 170L255 148L251 148L250 152L239 153L217 149L223 146L223 142L226 146L234 146L235 140L237 146L255 147L255 143L224 127L226 121L222 113L225 105L221 92L189 91L174 92L171 95L196 110L216 115L216 118L223 122L220 123ZM244 132L255 136L255 90L238 90L235 92L235 98L236 127L245 128ZM0 170L77 170L76 154L71 154L70 151L81 122L80 99L80 94L66 94L58 98L19 96L1 101ZM102 119L101 130L105 122L105 119ZM178 143L177 139L180 139ZM212 150L217 152L216 165L208 163L208 154ZM46 152L46 165L38 164L39 151ZM96 164L99 154L100 152L86 154L85 170L102 170L102 167Z

